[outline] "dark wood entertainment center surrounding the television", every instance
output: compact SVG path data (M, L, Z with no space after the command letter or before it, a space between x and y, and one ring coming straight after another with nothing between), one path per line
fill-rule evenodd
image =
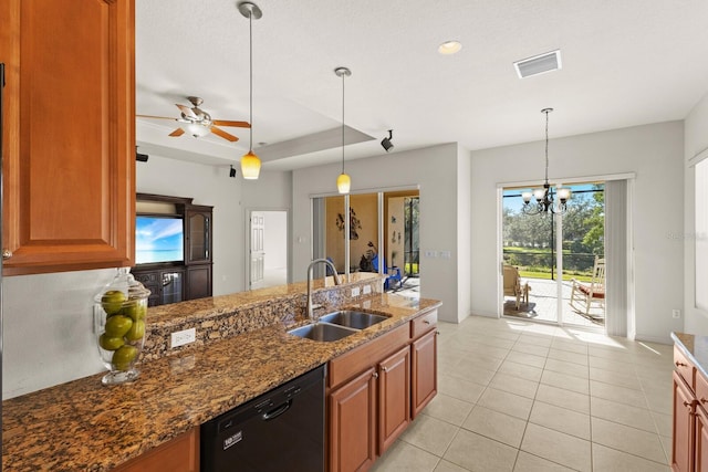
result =
M212 210L191 198L137 193L137 216L178 217L184 220L184 261L139 264L131 270L149 290L149 306L211 296Z

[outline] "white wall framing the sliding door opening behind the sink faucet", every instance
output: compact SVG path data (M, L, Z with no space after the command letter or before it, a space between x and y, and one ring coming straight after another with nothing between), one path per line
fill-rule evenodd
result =
M468 153L461 151L456 144L446 144L346 162L346 172L352 177L352 192L419 186L420 294L441 300L440 318L454 323L469 315L460 312L458 305L458 244L469 245L469 240L458 241L458 225L469 225L469 214L458 214L456 176L460 155L467 159ZM294 281L305 279L312 254L310 198L336 193L335 181L340 172L339 165L293 171ZM451 258L425 258L425 251L450 251ZM461 290L467 291L468 286Z

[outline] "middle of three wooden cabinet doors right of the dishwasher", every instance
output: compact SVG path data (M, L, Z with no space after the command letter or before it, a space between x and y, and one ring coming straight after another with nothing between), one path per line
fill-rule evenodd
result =
M410 348L403 347L378 364L378 454L410 422Z

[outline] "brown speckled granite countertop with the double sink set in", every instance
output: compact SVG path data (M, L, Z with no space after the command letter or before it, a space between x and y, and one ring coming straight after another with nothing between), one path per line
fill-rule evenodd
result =
M199 301L188 303L199 311ZM3 471L111 470L439 305L376 293L347 306L391 317L334 343L289 335L275 323L145 361L132 384L104 387L101 374L6 400Z

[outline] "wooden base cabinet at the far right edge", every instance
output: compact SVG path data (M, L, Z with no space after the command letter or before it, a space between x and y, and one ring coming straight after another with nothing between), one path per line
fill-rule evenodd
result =
M674 348L671 471L708 471L708 379Z

